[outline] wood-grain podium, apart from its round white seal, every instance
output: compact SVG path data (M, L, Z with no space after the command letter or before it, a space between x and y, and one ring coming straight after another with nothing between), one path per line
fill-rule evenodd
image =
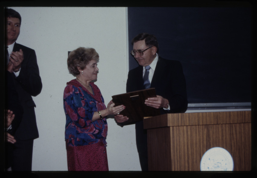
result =
M143 122L149 171L200 171L214 147L230 153L233 171L251 170L251 111L163 114Z

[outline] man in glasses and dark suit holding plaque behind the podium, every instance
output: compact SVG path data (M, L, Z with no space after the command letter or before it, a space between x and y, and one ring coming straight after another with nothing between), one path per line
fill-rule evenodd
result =
M147 106L160 109L161 114L185 112L187 92L181 63L158 56L159 45L154 35L139 34L133 38L132 45L131 54L139 66L129 71L126 91L155 88L157 97L145 100ZM118 123L128 119L120 114L115 116ZM137 122L135 129L141 169L147 171L147 134L146 130L143 129L143 121Z

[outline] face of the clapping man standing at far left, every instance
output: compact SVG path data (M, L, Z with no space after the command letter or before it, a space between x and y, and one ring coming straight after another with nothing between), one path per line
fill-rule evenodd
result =
M7 18L7 42L14 43L20 34L20 20L18 18Z

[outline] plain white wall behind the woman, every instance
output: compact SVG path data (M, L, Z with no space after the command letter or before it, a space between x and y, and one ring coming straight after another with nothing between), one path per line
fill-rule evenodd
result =
M21 14L18 43L33 48L42 78L34 97L39 138L34 140L33 171L66 171L63 89L74 77L67 69L68 51L80 46L99 53L96 85L107 103L125 93L127 26L125 7L11 7ZM107 156L110 171L140 171L135 126L119 127L109 118Z

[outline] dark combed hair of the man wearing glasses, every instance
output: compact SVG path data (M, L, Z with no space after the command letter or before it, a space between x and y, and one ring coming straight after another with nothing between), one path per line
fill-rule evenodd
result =
M151 35L148 33L140 33L132 39L132 45L134 45L135 42L141 40L145 40L145 45L147 45L148 47L155 46L157 48L156 52L159 51L159 44L155 35Z

